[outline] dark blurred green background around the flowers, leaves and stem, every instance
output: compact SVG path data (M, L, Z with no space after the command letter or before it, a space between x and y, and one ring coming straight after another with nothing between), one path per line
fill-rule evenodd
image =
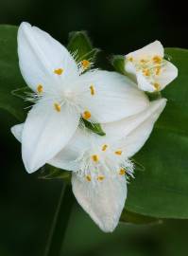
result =
M0 24L27 21L63 44L70 31L88 30L94 46L107 55L126 54L156 39L164 46L188 48L186 12L180 2L162 0L0 0ZM0 256L41 256L61 182L26 174L20 144L9 133L16 122L0 112ZM105 234L75 203L63 255L184 256L187 229L186 220L168 220L161 225L120 224Z

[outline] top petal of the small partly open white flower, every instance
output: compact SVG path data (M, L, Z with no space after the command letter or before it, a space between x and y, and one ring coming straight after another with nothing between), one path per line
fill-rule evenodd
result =
M148 56L161 56L163 57L163 46L160 41L155 41L141 49L128 53L127 58L132 57L133 60L140 60Z

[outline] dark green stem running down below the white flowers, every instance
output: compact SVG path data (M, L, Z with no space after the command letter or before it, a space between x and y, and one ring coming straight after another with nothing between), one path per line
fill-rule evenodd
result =
M63 183L59 204L54 215L44 256L60 256L62 242L68 226L73 204L74 196L71 191L71 186Z

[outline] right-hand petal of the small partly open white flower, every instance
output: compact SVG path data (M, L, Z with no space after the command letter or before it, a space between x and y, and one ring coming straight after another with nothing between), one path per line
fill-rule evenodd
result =
M164 70L162 70L162 74L158 78L158 83L161 85L161 90L170 82L175 80L178 76L178 68L166 61L166 65L164 66Z

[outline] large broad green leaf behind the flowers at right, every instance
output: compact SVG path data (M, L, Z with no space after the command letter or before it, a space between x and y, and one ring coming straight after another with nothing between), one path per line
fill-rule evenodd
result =
M156 218L188 218L188 50L167 48L179 77L151 137L134 159L145 166L128 185L126 209Z

